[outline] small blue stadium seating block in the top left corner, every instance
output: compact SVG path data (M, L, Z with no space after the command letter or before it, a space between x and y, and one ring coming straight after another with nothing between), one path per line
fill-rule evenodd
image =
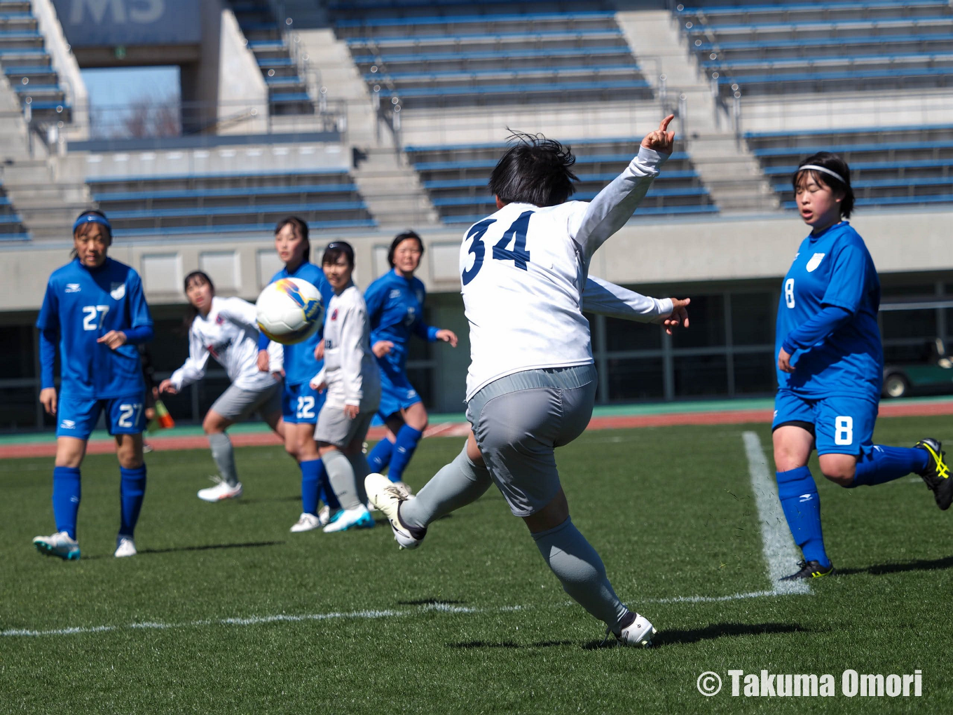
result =
M34 121L70 121L66 92L46 50L30 0L0 0L0 69Z

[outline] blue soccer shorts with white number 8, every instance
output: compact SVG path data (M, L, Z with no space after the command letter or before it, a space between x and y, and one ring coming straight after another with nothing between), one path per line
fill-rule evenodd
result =
M870 398L802 398L790 390L779 390L771 428L785 422L809 422L814 425L819 455L859 456L874 443L878 406L878 401Z

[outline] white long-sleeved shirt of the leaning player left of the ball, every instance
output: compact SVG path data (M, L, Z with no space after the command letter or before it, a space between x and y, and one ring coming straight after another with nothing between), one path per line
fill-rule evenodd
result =
M258 327L252 303L239 297L213 296L209 315L195 316L189 329L189 358L172 373L172 386L181 390L205 377L209 358L225 368L235 387L264 390L274 385L272 373L284 363L281 345L268 345L270 372L258 370Z

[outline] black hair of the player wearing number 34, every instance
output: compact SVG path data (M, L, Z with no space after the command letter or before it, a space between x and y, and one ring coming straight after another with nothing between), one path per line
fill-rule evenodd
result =
M571 167L576 163L569 147L542 134L513 132L512 143L490 174L490 193L504 204L557 206L569 198L578 181Z

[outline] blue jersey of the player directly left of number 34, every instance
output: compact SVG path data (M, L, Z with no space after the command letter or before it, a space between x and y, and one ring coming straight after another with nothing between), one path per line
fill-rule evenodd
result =
M367 287L364 302L371 321L371 345L390 340L394 348L378 362L386 362L398 373L407 364L407 343L416 334L424 340L436 340L436 328L423 321L423 304L427 292L419 278L397 276L390 271Z

